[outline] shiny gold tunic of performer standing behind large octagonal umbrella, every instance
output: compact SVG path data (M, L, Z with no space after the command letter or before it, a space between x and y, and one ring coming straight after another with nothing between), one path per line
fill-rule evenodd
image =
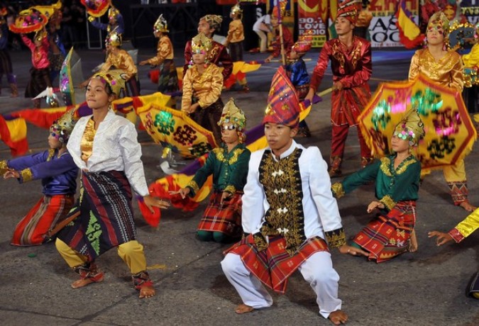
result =
M447 52L436 61L429 49L417 50L411 59L409 80L416 79L419 73L441 85L463 91L463 62L457 52Z

